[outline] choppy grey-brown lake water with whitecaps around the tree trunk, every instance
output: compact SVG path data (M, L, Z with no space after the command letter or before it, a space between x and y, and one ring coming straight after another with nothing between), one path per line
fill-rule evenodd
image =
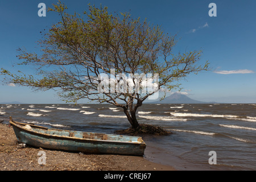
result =
M32 122L68 130L114 133L130 127L113 105L0 105L7 123ZM162 126L170 136L144 137L144 158L181 170L256 170L256 104L144 104L140 123ZM217 164L210 165L210 151Z

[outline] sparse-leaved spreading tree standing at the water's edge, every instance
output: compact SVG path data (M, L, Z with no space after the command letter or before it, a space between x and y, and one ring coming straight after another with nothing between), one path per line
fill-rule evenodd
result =
M61 20L39 40L40 53L18 49L18 59L23 60L19 64L34 65L38 68L36 75L16 75L3 68L1 73L10 76L14 84L41 90L59 88L59 96L65 101L88 98L122 107L133 129L139 126L136 111L143 101L160 88L179 88L177 81L189 73L208 69L208 62L197 65L202 51L173 55L176 35L165 34L146 19L133 19L129 13L119 17L109 13L108 7L91 5L83 16L71 15L61 2L49 11L58 13ZM113 76L113 72L115 81L110 79L108 86L102 74ZM158 80L153 81L154 89L145 91L143 74L147 73L158 74ZM125 75L129 74L133 76L126 82ZM135 84L141 86L136 90Z

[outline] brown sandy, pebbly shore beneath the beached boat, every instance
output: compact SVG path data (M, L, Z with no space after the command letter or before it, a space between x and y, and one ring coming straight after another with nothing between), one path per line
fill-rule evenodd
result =
M46 164L39 164L40 151ZM81 152L47 150L27 146L18 148L13 127L0 124L1 171L173 171L171 166L152 163L139 156L94 155Z

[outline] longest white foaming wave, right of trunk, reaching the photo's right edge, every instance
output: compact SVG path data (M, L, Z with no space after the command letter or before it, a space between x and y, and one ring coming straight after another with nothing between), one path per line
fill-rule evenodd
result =
M171 112L171 115L175 117L213 117L213 118L225 118L225 119L236 119L242 121L256 122L256 117L245 117L241 118L238 115L226 115L226 114L196 114L196 113L175 113Z

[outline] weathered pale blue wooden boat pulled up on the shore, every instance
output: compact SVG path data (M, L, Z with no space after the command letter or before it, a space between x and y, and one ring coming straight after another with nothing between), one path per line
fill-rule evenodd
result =
M10 124L13 126L18 142L34 147L137 156L144 155L146 148L146 143L141 137L49 129L43 126L16 122L11 117Z

